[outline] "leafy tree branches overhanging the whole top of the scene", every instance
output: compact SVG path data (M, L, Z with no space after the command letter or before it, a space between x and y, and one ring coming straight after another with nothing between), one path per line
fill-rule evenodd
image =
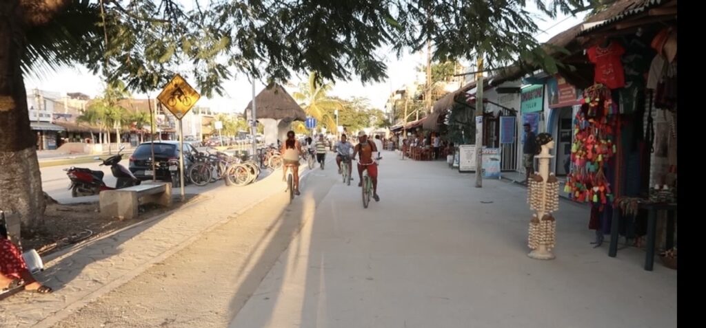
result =
M68 1L49 23L28 28L25 72L82 63L137 92L160 89L180 72L213 96L237 73L380 81L386 65L376 50L419 50L427 39L441 62L484 53L491 66L520 59L553 72L559 65L532 37L536 17L525 0L195 0L189 11L179 0L105 0L104 14L97 0ZM594 1L601 2L534 4L553 17Z

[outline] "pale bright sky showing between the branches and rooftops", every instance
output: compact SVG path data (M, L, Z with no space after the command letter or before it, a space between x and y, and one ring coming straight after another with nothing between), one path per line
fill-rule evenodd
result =
M185 7L188 9L191 0L183 0ZM530 8L530 11L533 11ZM534 11L536 13L536 11ZM535 37L539 42L546 42L554 35L570 27L581 23L585 17L585 13L580 13L576 16L558 15L555 19L546 18L537 13L537 25L540 31ZM543 18L544 17L544 18ZM406 83L412 83L417 79L416 68L419 65L426 63L426 53L405 53L401 58L397 58L395 53L391 51L379 51L388 65L388 79L379 83L362 84L357 77L352 77L350 81L337 81L330 92L331 96L340 98L349 98L352 96L361 96L370 100L373 108L384 110L385 102L390 96L390 93L395 89L402 88ZM306 79L306 76L298 76L292 79L293 84L298 84L300 80ZM102 92L104 83L100 77L90 74L88 70L80 65L75 67L65 67L60 70L43 75L42 77L26 76L25 87L30 89L42 89L49 92L59 92L66 94L67 92L81 92L88 94L91 97L97 96ZM261 82L256 83L256 92L260 92L265 85ZM244 75L236 75L225 82L224 89L226 94L216 96L213 99L202 97L198 101L198 106L210 107L218 112L236 112L241 113L252 99L252 84ZM289 90L291 92L291 90ZM158 92L150 94L151 98L155 98ZM144 94L133 95L135 98L146 98Z

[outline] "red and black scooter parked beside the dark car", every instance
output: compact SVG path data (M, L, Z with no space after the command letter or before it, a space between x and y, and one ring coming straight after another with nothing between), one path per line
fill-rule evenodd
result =
M103 171L94 171L89 168L74 168L73 166L71 168L64 169L68 179L71 179L71 184L68 186L68 189L71 189L71 196L92 196L97 195L100 191L123 189L140 184L140 179L136 178L130 170L119 164L120 161L123 160L121 151L124 149L125 147L121 147L120 151L118 151L116 155L110 156L104 160L98 157L95 158L96 160L101 160L103 162L100 164L101 166L110 166L113 177L118 179L115 187L109 187L105 184L105 182L103 182Z

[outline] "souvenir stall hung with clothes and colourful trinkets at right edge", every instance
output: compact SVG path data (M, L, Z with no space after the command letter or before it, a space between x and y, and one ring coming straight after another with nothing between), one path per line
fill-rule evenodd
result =
M563 191L591 204L594 244L610 240L610 256L629 243L647 250L645 270L655 250L676 268L676 7L649 24L634 16L579 35L593 84L572 121Z

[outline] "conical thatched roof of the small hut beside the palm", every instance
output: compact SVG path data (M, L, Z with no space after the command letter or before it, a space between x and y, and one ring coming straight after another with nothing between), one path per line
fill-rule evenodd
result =
M253 102L250 101L245 108L247 118L251 118L251 107ZM306 120L306 113L301 109L297 101L289 95L287 90L280 84L273 84L263 89L255 97L255 106L257 118L273 118L275 120Z

